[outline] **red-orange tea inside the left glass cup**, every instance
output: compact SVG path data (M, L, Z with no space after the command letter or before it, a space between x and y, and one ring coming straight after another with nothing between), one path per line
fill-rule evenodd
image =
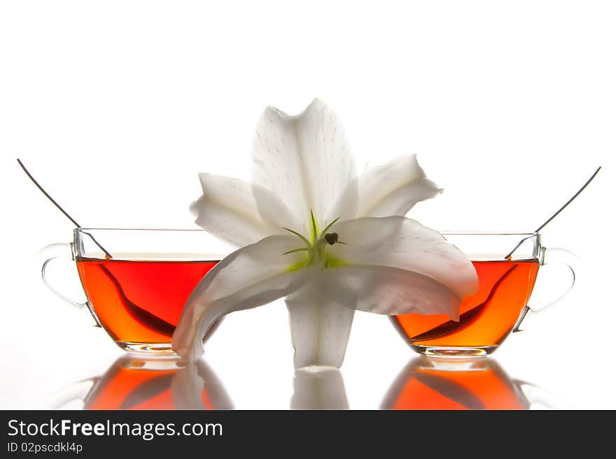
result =
M184 303L216 261L78 258L87 300L116 342L167 344Z

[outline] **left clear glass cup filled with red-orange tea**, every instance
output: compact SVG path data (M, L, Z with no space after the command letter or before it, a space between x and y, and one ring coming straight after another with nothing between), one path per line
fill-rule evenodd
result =
M43 263L47 281L50 263L59 257L76 262L94 320L127 351L172 354L172 335L184 303L197 283L230 252L206 231L85 229L73 242L54 244ZM213 330L212 330L213 331ZM210 335L211 332L208 332Z

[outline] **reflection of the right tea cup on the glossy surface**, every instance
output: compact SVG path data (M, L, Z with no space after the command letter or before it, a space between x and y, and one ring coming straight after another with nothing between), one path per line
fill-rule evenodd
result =
M491 358L412 359L395 379L381 409L557 408L537 386L511 379Z

